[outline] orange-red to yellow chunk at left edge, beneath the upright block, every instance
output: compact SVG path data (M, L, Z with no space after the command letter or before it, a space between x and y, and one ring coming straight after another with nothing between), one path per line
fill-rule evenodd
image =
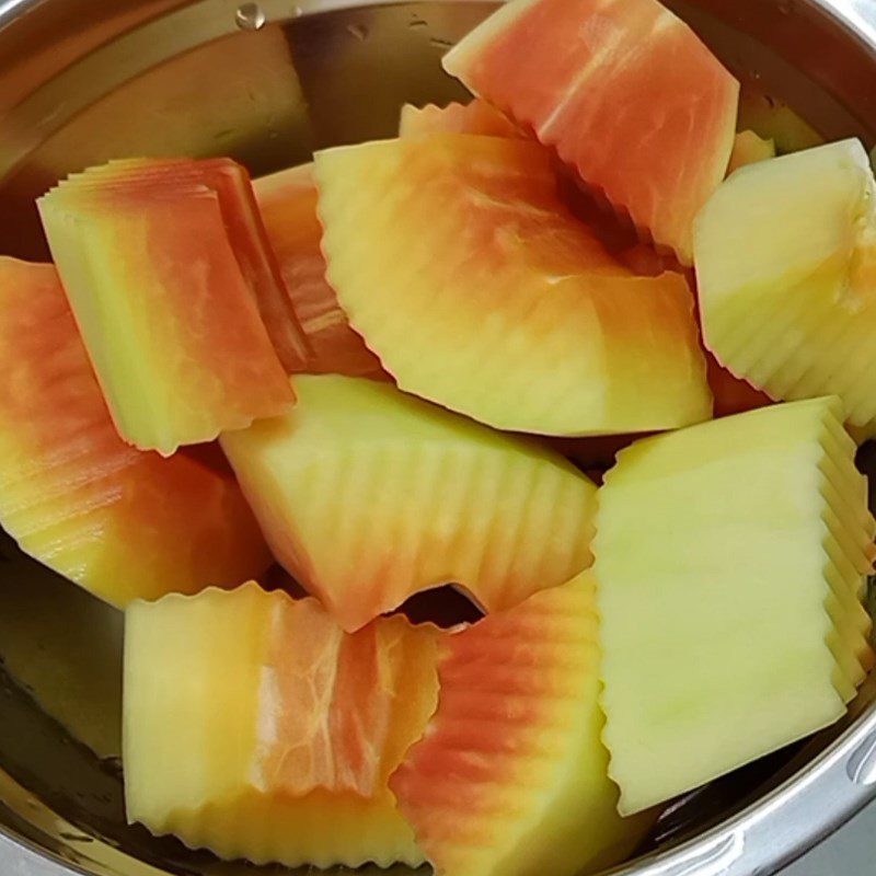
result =
M119 607L261 574L230 473L118 437L55 268L0 258L0 521L21 549Z

